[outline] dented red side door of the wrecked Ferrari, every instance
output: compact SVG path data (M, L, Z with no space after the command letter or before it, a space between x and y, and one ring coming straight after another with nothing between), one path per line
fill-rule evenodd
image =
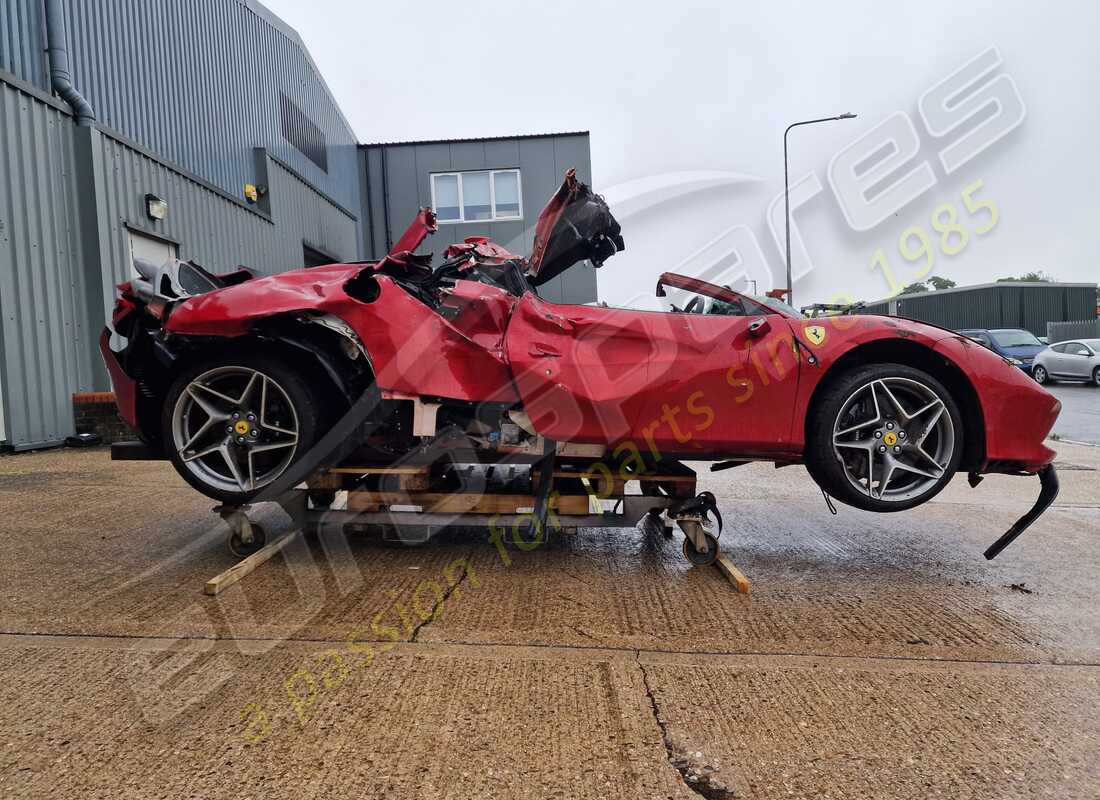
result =
M629 440L652 459L789 449L799 364L778 313L639 311L528 294L505 339L525 409L552 439Z

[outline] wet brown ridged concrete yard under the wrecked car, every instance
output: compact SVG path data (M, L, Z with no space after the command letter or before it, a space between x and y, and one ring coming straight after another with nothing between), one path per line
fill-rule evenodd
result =
M1096 798L1100 448L1056 447L992 562L1036 480L833 516L801 468L707 474L750 596L585 529L326 535L208 598L167 464L2 458L0 797Z

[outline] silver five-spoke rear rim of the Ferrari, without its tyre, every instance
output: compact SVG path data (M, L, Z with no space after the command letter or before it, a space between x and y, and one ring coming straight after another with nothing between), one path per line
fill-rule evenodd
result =
M290 465L298 415L274 379L246 366L218 366L179 394L172 441L184 467L205 484L252 492Z

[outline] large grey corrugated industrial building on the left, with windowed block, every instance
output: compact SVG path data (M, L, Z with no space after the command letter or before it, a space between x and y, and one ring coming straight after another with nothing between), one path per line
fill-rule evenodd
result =
M432 191L450 208L430 248L490 233L526 253L561 173L591 179L583 133L361 146L254 0L0 13L0 443L15 449L63 441L73 396L110 388L98 338L134 255L263 274L377 256ZM594 273L548 288L592 300Z

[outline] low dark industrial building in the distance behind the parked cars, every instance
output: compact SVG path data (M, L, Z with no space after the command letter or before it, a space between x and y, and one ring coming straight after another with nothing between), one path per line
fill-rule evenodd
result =
M952 330L1022 328L1049 336L1066 322L1094 325L1097 285L1001 281L897 295L869 303L861 313L909 317Z

